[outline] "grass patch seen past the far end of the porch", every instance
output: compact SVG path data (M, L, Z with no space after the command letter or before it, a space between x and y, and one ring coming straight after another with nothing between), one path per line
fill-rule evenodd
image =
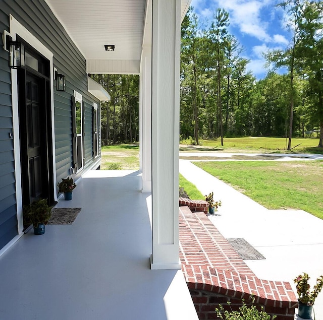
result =
M103 146L101 149L101 169L139 169L139 146L114 145Z

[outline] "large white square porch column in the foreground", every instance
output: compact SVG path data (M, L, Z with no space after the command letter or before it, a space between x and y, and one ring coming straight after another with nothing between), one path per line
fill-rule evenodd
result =
M180 269L178 223L181 0L152 2L151 269Z

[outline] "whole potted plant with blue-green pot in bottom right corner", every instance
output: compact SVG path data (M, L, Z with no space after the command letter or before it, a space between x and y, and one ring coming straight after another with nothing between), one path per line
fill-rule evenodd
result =
M309 276L305 272L294 279L298 294L298 315L303 319L311 318L314 301L323 287L323 276L320 276L316 279L313 291L310 292L308 280Z

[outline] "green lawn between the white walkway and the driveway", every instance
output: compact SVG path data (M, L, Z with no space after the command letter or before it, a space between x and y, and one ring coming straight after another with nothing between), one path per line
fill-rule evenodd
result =
M267 209L301 209L323 219L323 161L195 162Z

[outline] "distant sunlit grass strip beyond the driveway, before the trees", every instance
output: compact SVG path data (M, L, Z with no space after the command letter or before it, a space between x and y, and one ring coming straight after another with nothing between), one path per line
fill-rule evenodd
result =
M267 138L267 137L245 137L245 138L225 138L224 146L221 146L221 139L201 140L201 146L195 146L196 151L213 149L213 151L223 152L278 152L278 153L323 153L323 148L317 148L319 139L317 138L293 138L292 151L286 149L285 138ZM192 151L189 141L181 142L181 151ZM185 148L186 147L186 148ZM205 151L205 150L204 150Z

